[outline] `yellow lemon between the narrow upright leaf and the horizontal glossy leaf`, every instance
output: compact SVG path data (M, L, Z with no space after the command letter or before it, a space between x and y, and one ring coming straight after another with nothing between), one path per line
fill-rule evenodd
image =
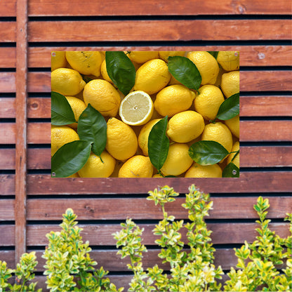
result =
M187 171L193 162L189 155L189 146L187 144L174 143L169 146L161 172L164 175L180 175Z

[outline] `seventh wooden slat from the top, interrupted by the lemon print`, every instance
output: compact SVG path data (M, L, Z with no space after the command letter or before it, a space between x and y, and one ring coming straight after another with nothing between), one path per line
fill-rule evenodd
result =
M50 148L29 148L28 169L51 169ZM241 167L289 167L292 166L292 147L289 146L241 146ZM0 169L15 169L15 149L0 149Z

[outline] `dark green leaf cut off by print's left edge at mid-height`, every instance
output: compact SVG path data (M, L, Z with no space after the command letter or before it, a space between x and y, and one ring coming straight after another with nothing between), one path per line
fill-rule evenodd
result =
M51 92L51 123L63 126L76 122L74 112L64 95L55 91Z

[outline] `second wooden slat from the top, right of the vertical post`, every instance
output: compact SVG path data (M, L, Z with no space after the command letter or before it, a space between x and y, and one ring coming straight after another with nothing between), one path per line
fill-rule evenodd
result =
M90 27L90 29L88 29ZM196 29L194 29L194 27ZM98 32L96 34L95 32ZM150 33L151 32L151 33ZM232 34L230 34L232 32ZM34 21L28 41L192 41L291 39L290 20Z

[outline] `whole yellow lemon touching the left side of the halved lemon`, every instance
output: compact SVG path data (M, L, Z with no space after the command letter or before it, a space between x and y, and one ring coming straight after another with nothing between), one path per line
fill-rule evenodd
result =
M102 79L93 79L84 87L84 102L91 104L104 117L115 117L119 111L121 98L110 82Z

